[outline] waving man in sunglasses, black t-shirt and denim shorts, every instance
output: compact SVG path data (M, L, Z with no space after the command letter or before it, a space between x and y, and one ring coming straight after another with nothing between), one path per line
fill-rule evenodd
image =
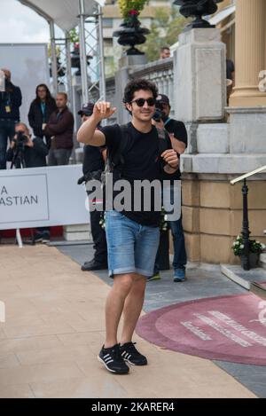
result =
M132 115L129 124L96 130L98 123L111 117L116 110L108 102L99 102L90 120L83 123L78 132L79 142L106 145L110 153L117 153L125 146L121 163L114 167L113 177L128 181L132 195L136 181L160 180L161 168L171 174L178 166L177 154L169 139L166 150L160 152L160 137L152 125L157 94L153 82L133 80L126 86L123 100ZM122 146L123 143L126 145ZM126 362L147 364L132 337L143 307L146 279L153 275L159 245L160 212L155 210L153 201L148 212L143 204L140 206L141 209L134 209L133 198L131 210L106 212L108 268L113 287L106 300L106 341L98 359L112 373L129 373ZM118 344L117 329L122 314L121 343Z

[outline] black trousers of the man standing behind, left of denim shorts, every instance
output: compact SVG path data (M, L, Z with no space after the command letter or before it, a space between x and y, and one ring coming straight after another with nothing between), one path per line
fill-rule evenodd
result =
M97 263L107 264L106 232L99 224L101 212L90 212L90 229L95 249L94 259Z

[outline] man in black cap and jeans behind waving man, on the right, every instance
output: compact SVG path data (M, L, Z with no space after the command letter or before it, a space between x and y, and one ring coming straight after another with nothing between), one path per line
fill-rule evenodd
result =
M176 153L182 154L187 146L187 131L184 122L177 122L169 117L171 106L168 96L160 94L156 101L156 111L153 120L157 122L159 127L164 127L171 139L171 144ZM163 176L164 180L171 182L171 203L173 203L174 181L181 179L180 170L177 169L174 175L168 176L166 173ZM182 216L177 221L168 222L174 242L174 281L183 282L185 279L185 265L187 261L186 250L184 245L184 231L182 226ZM153 277L149 280L160 279L159 268L159 253L157 253Z

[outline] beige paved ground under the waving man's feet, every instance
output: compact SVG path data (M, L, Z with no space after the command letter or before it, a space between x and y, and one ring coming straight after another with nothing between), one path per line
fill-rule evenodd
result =
M254 397L214 363L138 337L146 367L107 373L109 286L54 247L0 247L0 397Z

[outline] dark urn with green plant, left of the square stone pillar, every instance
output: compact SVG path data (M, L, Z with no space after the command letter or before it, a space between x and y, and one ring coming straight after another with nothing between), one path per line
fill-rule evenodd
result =
M147 0L119 0L123 23L121 30L113 32L113 36L118 36L118 43L122 46L129 45L127 55L143 55L144 52L135 48L136 44L145 43L145 35L150 33L149 29L140 27L137 19L139 13L145 8Z

